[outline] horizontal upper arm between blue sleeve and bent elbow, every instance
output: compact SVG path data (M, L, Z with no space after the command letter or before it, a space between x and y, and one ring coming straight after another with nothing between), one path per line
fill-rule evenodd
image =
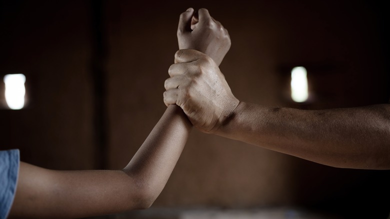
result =
M78 218L137 208L121 170L51 170L21 162L10 218Z

